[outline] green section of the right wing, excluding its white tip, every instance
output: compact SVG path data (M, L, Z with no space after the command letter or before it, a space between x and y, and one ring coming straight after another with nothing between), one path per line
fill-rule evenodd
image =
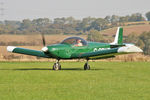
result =
M73 54L72 58L103 59L103 58L115 57L117 53L118 53L118 48L111 48L111 49L100 50L96 52Z

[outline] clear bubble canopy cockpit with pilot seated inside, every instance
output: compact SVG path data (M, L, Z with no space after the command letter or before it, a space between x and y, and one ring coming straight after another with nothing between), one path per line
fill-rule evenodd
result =
M80 37L69 37L66 38L61 42L61 44L70 44L74 46L86 46L87 42L86 40L80 38Z

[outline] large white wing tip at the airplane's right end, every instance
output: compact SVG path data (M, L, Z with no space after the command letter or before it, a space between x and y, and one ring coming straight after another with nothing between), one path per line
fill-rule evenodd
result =
M118 52L140 53L140 52L143 52L143 50L135 45L126 45L125 47L120 47L118 49Z

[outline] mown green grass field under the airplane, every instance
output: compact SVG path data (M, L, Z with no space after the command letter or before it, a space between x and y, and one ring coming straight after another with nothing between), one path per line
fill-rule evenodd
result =
M150 100L150 62L0 62L0 100Z

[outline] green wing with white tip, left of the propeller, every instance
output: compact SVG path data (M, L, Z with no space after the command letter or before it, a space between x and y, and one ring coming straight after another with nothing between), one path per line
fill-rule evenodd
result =
M42 51L19 48L19 47L14 47L14 46L8 46L7 51L13 52L13 53L25 54L25 55L32 55L32 56L37 56L37 57L50 58L50 56L46 55Z

